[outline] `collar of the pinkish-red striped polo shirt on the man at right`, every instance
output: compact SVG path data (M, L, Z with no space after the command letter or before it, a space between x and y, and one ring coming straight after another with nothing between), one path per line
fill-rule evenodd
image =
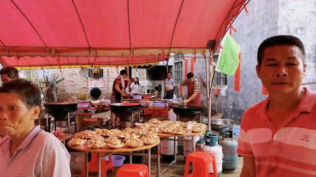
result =
M303 94L303 98L301 102L299 103L299 105L297 106L296 111L294 112L294 115L295 115L294 117L297 117L301 112L308 112L308 113L312 112L315 105L316 94L308 88L303 88L303 89L305 90ZM261 115L263 118L267 120L269 119L267 115L267 106L268 106L269 101L270 101L270 97L268 97L262 102L263 106L261 106L256 112L257 114Z

